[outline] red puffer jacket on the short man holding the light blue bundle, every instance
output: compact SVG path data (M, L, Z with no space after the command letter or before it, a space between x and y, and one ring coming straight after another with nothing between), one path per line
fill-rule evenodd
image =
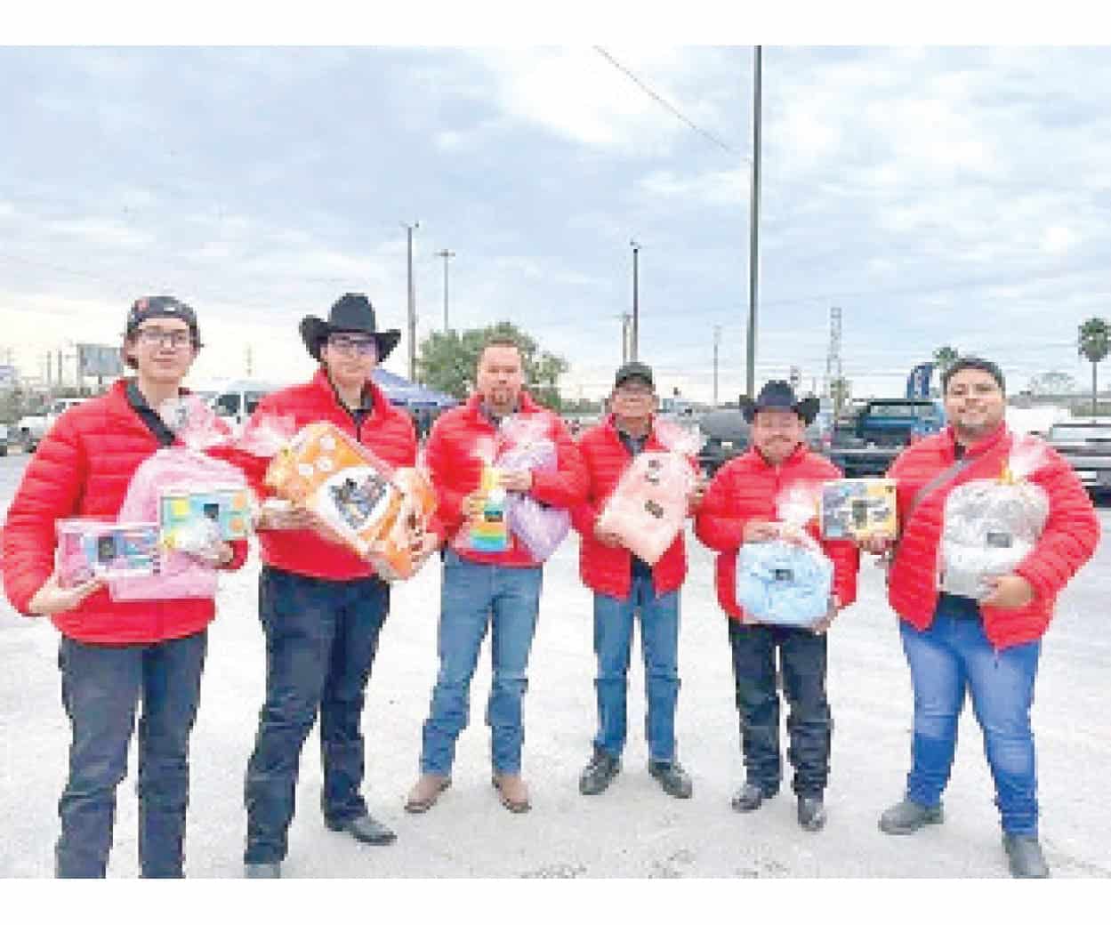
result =
M741 547L744 525L751 520L774 521L775 499L790 485L827 482L840 479L833 463L805 446L771 465L755 449L725 463L713 476L694 522L699 540L718 550L718 603L733 620L743 622L743 611L737 603L737 551ZM817 520L811 521L810 534L820 540ZM848 540L822 542L822 549L833 562L833 593L842 606L857 600L857 571L860 552Z

